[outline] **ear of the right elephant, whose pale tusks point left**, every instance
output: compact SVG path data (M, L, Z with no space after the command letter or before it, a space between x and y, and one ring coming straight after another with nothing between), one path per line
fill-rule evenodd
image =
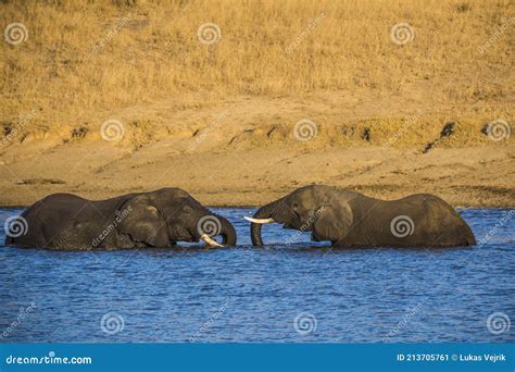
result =
M349 234L353 214L348 202L326 202L315 213L312 232L316 240L338 241Z

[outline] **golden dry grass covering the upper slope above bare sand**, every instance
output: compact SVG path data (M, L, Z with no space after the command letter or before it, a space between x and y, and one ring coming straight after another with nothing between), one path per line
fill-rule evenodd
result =
M145 107L169 99L168 109L180 111L234 97L290 97L291 112L304 97L332 95L355 106L397 99L379 116L355 115L382 123L376 134L391 136L423 109L432 132L451 114L479 136L487 120L513 121L515 24L483 53L478 47L514 9L511 0L1 3L0 25L21 22L28 39L0 46L0 119L36 110L29 125L76 127L140 107L133 119L174 125ZM197 36L208 22L222 30L209 46ZM399 22L416 33L404 46L390 38ZM338 108L314 111L329 125L346 119Z

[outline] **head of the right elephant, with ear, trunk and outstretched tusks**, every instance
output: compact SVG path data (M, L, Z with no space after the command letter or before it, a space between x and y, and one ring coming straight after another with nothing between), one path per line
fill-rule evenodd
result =
M254 246L263 246L261 226L281 223L285 228L312 232L316 241L342 239L353 222L349 201L357 194L324 185L299 188L293 193L260 208L254 216L246 218L251 224Z

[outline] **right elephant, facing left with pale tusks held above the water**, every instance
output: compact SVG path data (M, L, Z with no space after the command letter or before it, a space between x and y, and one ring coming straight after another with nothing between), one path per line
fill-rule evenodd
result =
M314 185L260 208L251 224L254 246L261 226L311 232L315 241L338 247L452 247L476 244L470 227L445 201L429 194L378 200L342 188Z

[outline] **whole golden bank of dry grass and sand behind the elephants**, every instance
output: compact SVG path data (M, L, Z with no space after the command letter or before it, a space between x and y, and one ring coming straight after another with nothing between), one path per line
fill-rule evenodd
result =
M1 2L0 26L23 23L28 38L0 42L0 203L178 186L210 204L255 204L327 183L513 206L514 136L480 129L513 124L514 10L513 0ZM199 40L206 23L218 42ZM399 23L415 33L405 45L390 36ZM101 138L110 120L122 140ZM309 141L294 136L302 120L316 124ZM450 121L455 133L423 153Z

